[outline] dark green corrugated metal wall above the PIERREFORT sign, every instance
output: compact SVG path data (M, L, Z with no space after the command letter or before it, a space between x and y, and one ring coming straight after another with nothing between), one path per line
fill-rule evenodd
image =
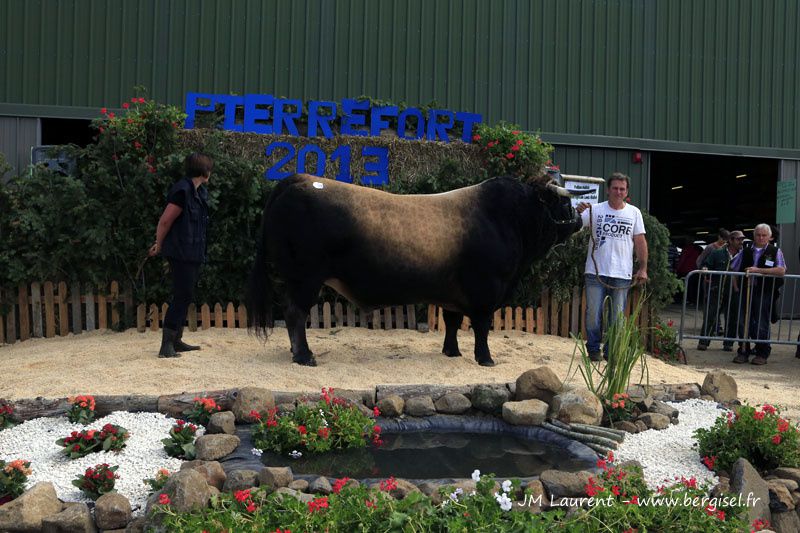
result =
M3 0L0 115L136 85L365 94L606 146L798 149L797 27L795 0Z

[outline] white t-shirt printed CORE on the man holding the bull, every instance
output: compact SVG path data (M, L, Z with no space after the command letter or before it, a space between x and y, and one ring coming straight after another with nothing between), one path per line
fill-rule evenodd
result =
M633 236L644 231L642 212L628 203L614 209L608 202L592 206L589 251L586 254L586 273L611 278L631 279L633 271ZM581 213L583 226L589 226L589 209ZM594 259L592 249L594 248ZM595 269L595 262L597 269Z

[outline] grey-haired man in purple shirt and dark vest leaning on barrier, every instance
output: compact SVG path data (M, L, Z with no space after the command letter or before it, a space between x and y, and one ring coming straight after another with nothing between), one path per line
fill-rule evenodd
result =
M753 231L753 246L745 248L742 253L737 255L733 263L732 269L739 272L746 272L747 274L761 274L762 276L747 276L745 277L744 290L747 296L743 298L744 310L742 312L743 320L740 321L739 333L742 337L745 336L745 329L747 330L747 337L755 339L755 357L751 361L754 365L767 364L772 348L769 344L770 337L770 317L772 314L773 294L776 290L776 282L782 282L782 279L776 277L763 277L763 276L778 276L783 277L786 273L786 262L783 259L783 252L780 248L769 242L772 236L772 230L769 224L759 224ZM739 350L736 357L733 359L734 363L746 363L751 355L750 343L742 345L740 343Z

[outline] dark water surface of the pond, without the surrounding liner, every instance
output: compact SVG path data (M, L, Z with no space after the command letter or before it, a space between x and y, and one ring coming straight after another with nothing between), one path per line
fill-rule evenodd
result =
M331 478L466 478L476 468L497 477L535 477L544 470L574 472L594 459L570 454L553 442L522 435L442 429L383 433L380 447L342 450L299 459L264 453L270 466Z

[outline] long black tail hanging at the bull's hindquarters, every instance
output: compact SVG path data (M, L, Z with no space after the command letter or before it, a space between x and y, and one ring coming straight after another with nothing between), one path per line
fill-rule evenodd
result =
M268 329L272 328L272 301L274 290L272 284L272 260L267 244L267 211L274 194L270 196L261 221L261 240L258 243L256 259L247 282L245 304L247 306L247 329L256 336L266 338Z

